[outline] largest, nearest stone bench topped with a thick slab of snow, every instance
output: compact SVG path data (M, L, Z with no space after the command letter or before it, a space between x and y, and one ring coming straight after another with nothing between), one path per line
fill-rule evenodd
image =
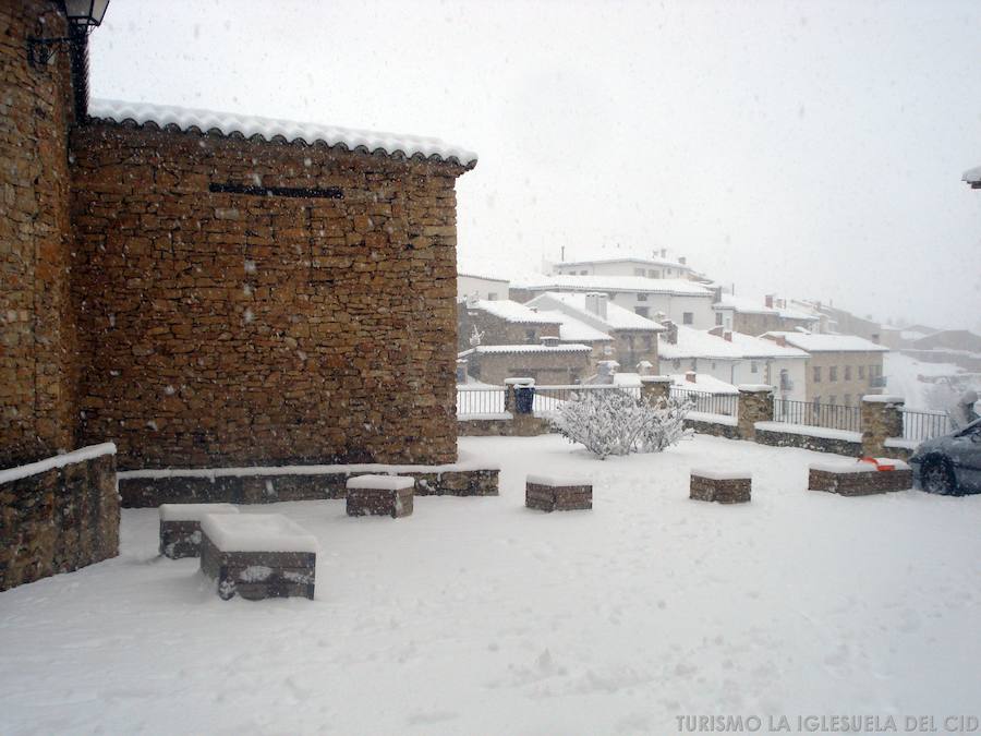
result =
M218 595L313 600L317 540L279 514L209 514L201 520L201 570Z

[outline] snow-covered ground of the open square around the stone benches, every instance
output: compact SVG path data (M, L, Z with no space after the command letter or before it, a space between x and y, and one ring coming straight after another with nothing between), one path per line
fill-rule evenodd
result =
M279 511L316 600L220 601L124 510L121 555L0 593L0 733L678 733L692 714L964 714L981 692L981 496L807 492L833 456L707 436L598 461L552 435L460 441L496 498L412 517ZM692 467L753 500L688 499ZM592 511L523 507L585 475ZM938 722L940 723L940 722ZM900 725L901 727L901 725Z

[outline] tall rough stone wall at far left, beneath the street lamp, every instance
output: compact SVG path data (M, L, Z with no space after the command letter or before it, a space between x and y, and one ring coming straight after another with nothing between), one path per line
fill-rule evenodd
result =
M47 0L0 3L0 468L74 449L68 126L60 51L27 62L27 37L64 36Z

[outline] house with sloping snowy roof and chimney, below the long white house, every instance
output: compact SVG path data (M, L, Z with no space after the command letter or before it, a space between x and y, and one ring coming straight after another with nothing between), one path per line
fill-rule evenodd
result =
M610 342L595 338L584 340L602 347L602 358L595 355L597 363L600 360L614 360L625 371L634 370L643 361L652 365L657 364L657 335L664 327L653 319L610 302L605 293L546 291L529 301L528 306L540 313L559 312L608 336ZM572 335L584 337L581 327L572 325L569 329L570 337Z

